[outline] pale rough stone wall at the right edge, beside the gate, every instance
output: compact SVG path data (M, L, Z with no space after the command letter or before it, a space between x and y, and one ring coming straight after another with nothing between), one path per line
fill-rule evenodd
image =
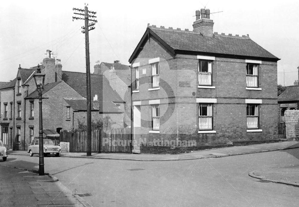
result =
M286 122L286 138L299 140L299 110L286 110L284 112Z

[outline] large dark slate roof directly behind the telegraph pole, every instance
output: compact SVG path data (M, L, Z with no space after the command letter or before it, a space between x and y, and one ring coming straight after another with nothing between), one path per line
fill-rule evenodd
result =
M86 98L86 73L62 71L62 80ZM101 96L103 96L114 102L123 102L123 99L109 85L105 76L90 74L90 85L91 97L97 94L99 101L102 100Z

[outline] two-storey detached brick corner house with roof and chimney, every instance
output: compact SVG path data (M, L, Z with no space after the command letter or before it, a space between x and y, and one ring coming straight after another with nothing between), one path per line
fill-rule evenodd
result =
M278 141L276 56L245 36L147 27L132 53L134 153Z

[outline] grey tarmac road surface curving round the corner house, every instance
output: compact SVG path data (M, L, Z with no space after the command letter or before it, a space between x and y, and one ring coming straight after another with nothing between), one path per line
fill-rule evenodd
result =
M179 161L46 157L45 172L92 206L298 206L298 187L248 176L298 159L298 149ZM7 161L38 168L37 156Z

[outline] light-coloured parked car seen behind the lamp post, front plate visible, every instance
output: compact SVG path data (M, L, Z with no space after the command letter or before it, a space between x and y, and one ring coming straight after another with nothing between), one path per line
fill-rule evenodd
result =
M55 146L51 139L43 139L44 143L44 156L47 155L55 155L56 157L59 157L61 148L60 146ZM33 139L31 142L31 145L28 146L28 151L30 157L33 156L33 154L39 154L39 139Z

